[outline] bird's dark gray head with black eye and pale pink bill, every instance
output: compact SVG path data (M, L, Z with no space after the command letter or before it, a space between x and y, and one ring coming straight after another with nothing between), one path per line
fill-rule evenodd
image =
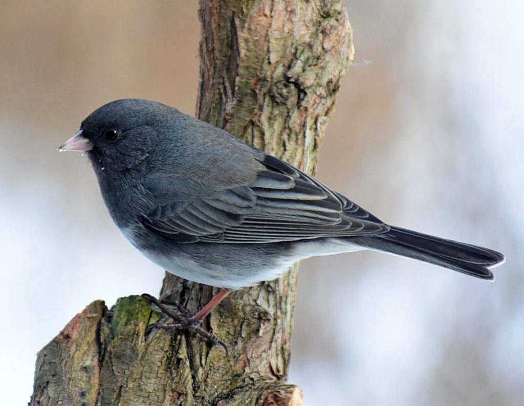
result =
M158 144L166 117L177 112L161 103L123 99L97 108L60 150L88 151L96 172L123 171L143 162Z

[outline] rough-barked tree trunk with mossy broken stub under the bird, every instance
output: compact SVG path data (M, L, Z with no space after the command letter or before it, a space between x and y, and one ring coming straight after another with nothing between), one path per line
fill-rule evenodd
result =
M341 0L201 0L198 116L313 172L353 58ZM297 269L235 292L204 327L228 346L169 331L141 297L95 301L39 353L31 405L299 405L285 383ZM215 290L216 293L216 290ZM196 312L207 286L166 274L161 298Z

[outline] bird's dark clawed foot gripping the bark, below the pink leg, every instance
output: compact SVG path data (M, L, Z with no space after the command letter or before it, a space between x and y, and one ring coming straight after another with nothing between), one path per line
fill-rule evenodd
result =
M166 323L159 321L157 323L150 324L147 327L146 333L151 332L154 328L163 328L165 330L170 330L176 333L183 331L192 332L200 337L204 338L206 341L210 342L212 345L218 344L222 346L227 355L227 346L221 339L215 337L212 333L205 330L202 327L202 320L196 319L194 316L190 316L190 313L185 309L180 303L172 303L172 305L180 312L180 314L173 313L165 304L160 302L157 298L152 297L150 294L144 293L142 297L147 299L149 302L157 306L160 311L166 316L170 317L173 322Z

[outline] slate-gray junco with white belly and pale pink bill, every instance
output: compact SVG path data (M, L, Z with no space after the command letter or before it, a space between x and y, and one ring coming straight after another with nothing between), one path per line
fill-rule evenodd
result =
M290 164L147 100L108 103L61 151L87 151L105 204L155 264L229 290L278 278L315 255L373 249L482 279L497 251L390 226Z

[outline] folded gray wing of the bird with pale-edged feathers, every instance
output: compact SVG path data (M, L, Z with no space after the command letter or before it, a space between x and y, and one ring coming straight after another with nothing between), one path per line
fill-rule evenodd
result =
M242 186L159 205L142 223L179 243L276 243L381 234L389 226L344 196L269 155Z

